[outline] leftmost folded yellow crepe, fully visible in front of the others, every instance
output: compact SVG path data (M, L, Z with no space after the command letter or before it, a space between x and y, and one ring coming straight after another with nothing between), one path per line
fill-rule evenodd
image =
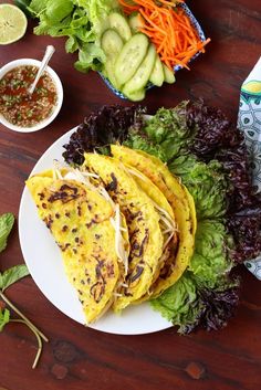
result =
M112 224L115 210L98 191L66 179L65 173L53 176L50 170L32 176L27 187L61 250L86 323L92 323L113 303L121 276Z

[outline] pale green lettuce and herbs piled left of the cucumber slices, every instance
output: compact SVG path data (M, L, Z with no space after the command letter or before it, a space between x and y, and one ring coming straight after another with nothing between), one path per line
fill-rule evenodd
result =
M36 35L66 36L67 53L77 52L75 68L101 71L106 55L101 48L101 33L116 0L32 0L27 11L39 19Z

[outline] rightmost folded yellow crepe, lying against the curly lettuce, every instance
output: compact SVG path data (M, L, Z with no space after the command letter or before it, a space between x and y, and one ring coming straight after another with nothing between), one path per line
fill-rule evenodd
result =
M111 150L114 158L147 176L165 194L174 211L179 236L178 250L175 262L171 259L165 262L159 277L150 287L150 297L156 297L179 280L192 256L197 228L194 200L158 158L118 145L112 145Z

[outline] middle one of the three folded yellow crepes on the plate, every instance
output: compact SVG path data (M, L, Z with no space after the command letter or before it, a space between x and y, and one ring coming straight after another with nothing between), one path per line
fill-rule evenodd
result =
M85 154L84 157L83 169L100 177L114 202L119 204L128 226L128 273L122 296L113 305L114 310L119 312L147 294L158 272L164 245L160 218L152 199L119 161L97 154Z

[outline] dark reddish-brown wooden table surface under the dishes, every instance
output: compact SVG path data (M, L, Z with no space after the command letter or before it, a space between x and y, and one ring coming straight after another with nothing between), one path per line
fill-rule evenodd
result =
M4 2L4 1L0 1ZM144 102L148 112L171 107L184 98L202 96L237 119L239 91L261 54L260 0L188 1L212 42L191 71L177 74L175 85L152 89ZM20 57L41 59L46 44L56 52L51 66L64 86L64 104L46 129L19 134L0 126L0 213L18 217L24 180L33 166L69 129L103 104L122 102L95 73L79 73L64 39L33 35L0 48L0 65ZM32 226L33 229L33 226ZM30 232L28 232L30 235ZM35 260L38 249L35 246ZM18 228L0 257L0 268L23 262ZM35 340L20 325L0 335L0 389L8 390L258 390L261 388L261 282L242 266L241 302L237 316L221 331L187 337L176 329L144 336L117 336L85 328L60 313L28 277L8 295L50 338L39 368L30 365Z

